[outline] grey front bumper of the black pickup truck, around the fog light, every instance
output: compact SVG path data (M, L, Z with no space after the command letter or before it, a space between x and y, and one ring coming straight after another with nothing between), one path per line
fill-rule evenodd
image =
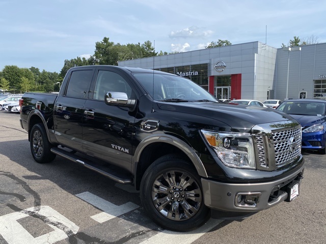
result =
M236 212L239 216L258 212L286 200L288 198L286 188L295 180L301 181L303 172L304 165L281 179L247 184L223 183L202 178L204 203L213 210L233 212L232 216L236 216ZM254 206L237 206L237 196L242 193L257 195L259 193L257 203Z

